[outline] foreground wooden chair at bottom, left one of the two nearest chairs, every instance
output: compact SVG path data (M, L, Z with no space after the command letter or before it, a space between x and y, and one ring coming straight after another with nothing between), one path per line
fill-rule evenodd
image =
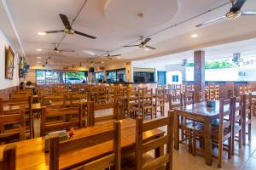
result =
M49 169L61 169L60 157L70 151L76 152L78 150L90 148L97 144L103 144L109 141L113 141L113 152L108 155L97 157L90 162L79 161L75 162L67 169L95 169L102 170L107 167L114 167L116 170L120 170L121 161L121 144L120 133L121 123L114 122L113 128L110 128L103 133L91 134L78 139L70 139L67 141L59 142L59 137L53 136L49 138ZM60 160L60 161L59 161ZM75 161L75 157L71 158L71 161Z

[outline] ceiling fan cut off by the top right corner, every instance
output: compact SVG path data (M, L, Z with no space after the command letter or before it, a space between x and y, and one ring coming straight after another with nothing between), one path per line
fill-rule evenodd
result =
M244 3L246 3L246 1L247 0L230 0L230 3L232 3L232 7L230 8L230 11L227 14L225 14L224 16L218 17L216 19L209 20L205 23L199 24L195 27L205 26L207 24L210 24L212 22L215 22L217 20L222 20L222 19L233 20L240 16L256 15L256 11L241 11L241 8L244 5Z

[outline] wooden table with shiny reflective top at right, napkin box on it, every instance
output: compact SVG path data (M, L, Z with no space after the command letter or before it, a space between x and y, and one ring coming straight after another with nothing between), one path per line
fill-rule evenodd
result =
M230 108L225 106L224 111ZM205 129L205 158L207 165L212 165L212 122L219 118L219 101L214 107L207 107L207 102L185 105L174 108L174 149L179 150L179 117L187 117L204 123Z

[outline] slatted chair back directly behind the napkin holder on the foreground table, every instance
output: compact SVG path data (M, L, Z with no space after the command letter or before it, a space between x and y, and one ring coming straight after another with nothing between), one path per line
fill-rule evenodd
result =
M82 105L60 109L43 107L41 111L40 136L53 131L66 130L71 127L83 127L82 113Z

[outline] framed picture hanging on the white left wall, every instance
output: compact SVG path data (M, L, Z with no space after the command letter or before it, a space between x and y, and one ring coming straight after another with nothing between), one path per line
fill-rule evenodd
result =
M14 77L15 53L12 48L5 48L5 78L12 80Z

